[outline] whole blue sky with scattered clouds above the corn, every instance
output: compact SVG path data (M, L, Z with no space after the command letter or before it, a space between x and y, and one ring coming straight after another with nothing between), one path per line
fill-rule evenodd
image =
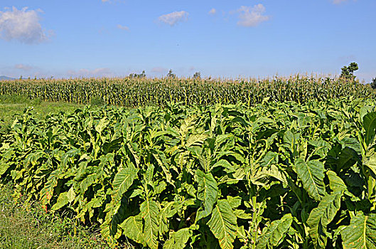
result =
M1 0L0 75L376 77L375 0Z

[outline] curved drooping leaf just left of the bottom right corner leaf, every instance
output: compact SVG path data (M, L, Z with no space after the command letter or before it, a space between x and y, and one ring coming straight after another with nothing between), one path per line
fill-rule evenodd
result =
M325 248L326 246L326 233L328 233L326 227L333 221L335 214L340 209L341 196L342 194L324 196L318 203L318 207L313 208L309 214L307 220L308 233L317 247Z

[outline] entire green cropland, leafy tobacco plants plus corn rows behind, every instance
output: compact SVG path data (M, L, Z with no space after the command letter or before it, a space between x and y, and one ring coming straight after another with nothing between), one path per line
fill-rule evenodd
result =
M0 176L16 200L100 228L111 248L375 246L367 85L16 80L0 93L108 104L12 117L0 130Z

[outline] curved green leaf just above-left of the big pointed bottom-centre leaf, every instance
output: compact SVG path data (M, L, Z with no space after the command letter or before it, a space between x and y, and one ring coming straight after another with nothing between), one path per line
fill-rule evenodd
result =
M197 211L197 222L200 218L205 218L212 213L213 206L218 197L218 186L217 181L215 181L211 173L204 174L199 169L196 171L195 180L198 182L197 198L203 201L203 206Z

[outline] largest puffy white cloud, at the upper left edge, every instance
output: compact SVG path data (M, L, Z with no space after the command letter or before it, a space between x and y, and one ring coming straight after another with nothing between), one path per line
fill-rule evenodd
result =
M18 40L22 43L41 43L48 40L43 31L38 12L28 7L0 11L0 38L6 41Z

